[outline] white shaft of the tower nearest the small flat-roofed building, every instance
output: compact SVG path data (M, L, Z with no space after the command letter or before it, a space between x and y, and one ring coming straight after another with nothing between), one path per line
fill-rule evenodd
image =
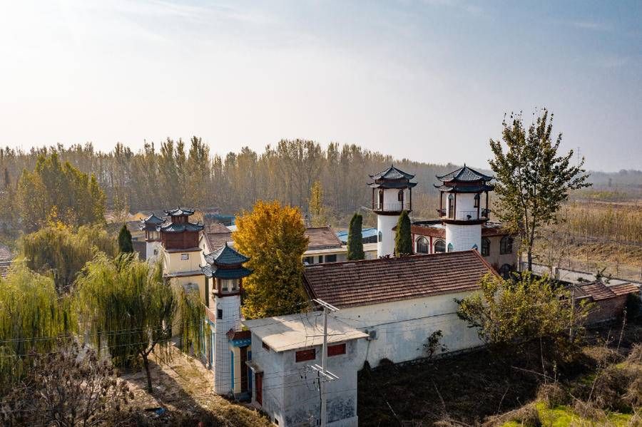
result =
M228 342L228 331L240 331L240 295L225 297L216 296L214 299L215 321L214 330L214 392L228 394L232 392L232 353ZM223 310L223 319L218 319L218 310Z

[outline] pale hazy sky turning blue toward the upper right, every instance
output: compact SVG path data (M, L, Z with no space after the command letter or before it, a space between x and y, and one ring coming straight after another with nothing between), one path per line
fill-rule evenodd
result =
M642 169L642 1L4 1L0 144L281 138L485 166L548 106L593 170Z

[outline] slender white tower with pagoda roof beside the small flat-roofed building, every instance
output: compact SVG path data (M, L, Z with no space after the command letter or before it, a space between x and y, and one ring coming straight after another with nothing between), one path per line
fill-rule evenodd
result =
M241 372L233 373L233 356L230 351L230 336L235 331L241 330L241 292L243 291L243 277L252 273L250 269L243 267L249 258L236 252L225 243L225 246L216 249L214 252L205 255L205 266L201 271L205 274L205 292L209 294L211 283L211 297L206 296L207 306L215 313L214 321L214 356L212 370L214 371L214 392L218 394L229 394L235 388L235 376L243 379L243 370L247 366L238 366ZM212 301L213 299L213 301ZM250 342L243 344L245 347ZM246 354L240 349L240 354ZM245 380L247 382L247 380ZM243 387L243 386L242 386Z

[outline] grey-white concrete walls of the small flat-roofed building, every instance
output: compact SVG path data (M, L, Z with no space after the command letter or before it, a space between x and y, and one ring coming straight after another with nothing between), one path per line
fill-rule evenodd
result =
M340 378L327 384L328 426L358 425L357 370L361 368L360 354L363 351L360 341L363 340L347 341L346 354L327 358L327 369ZM262 409L270 420L276 418L279 426L317 426L320 419L317 373L308 366L321 364L321 346L307 347L315 349L315 360L298 363L295 361L295 350L280 353L267 351L254 334L252 348L253 361L263 369ZM253 381L255 386L256 382ZM257 403L255 389L252 396L253 403Z

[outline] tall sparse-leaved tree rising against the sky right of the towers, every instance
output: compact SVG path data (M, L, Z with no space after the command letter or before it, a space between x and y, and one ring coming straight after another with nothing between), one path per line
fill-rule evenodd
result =
M544 108L524 128L521 113L502 122L502 140L490 140L494 158L489 160L497 184L496 215L521 236L528 269L533 267L533 248L542 226L556 223L560 205L570 190L588 187L584 158L572 165L573 150L558 155L562 134L553 140L553 115ZM506 152L504 146L506 145Z

